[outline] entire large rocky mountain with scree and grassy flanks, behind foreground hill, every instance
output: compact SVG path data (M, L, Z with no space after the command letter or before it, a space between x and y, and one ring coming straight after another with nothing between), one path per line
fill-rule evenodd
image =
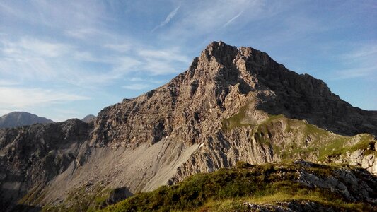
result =
M376 136L376 112L323 81L265 52L212 42L187 71L94 122L0 129L0 206L88 209L95 196L110 204L241 160L302 158L377 175Z

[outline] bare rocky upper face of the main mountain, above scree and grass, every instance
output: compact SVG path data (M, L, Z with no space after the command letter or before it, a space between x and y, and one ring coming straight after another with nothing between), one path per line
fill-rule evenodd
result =
M256 49L213 42L165 86L101 111L93 145L137 146L169 135L201 143L246 104L337 134L377 135L376 117L341 100L323 81L289 71Z

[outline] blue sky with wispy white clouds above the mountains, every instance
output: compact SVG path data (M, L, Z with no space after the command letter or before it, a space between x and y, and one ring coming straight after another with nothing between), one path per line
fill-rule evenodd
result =
M0 1L0 115L54 121L163 85L209 42L248 46L377 110L377 1Z

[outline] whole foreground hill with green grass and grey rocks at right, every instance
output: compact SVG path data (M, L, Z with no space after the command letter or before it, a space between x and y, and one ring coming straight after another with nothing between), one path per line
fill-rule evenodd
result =
M303 160L197 174L103 211L376 211L377 177Z

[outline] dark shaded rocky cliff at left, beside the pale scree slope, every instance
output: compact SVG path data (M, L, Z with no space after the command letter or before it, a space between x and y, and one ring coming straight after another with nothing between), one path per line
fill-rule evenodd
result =
M45 184L77 163L78 148L90 131L91 126L78 119L0 129L0 208L30 189L37 198Z

